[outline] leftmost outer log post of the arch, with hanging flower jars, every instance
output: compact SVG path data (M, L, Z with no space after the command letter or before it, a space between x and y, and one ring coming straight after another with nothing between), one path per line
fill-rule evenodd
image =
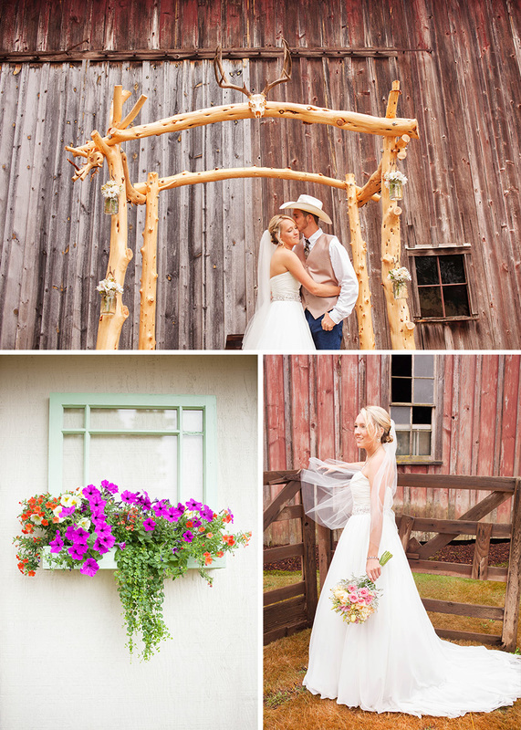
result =
M108 147L101 139L98 131L92 132L99 151L107 158L110 177L121 183L122 190L118 197L118 213L110 216L110 250L107 276L111 272L121 287L125 285L127 266L132 258L132 252L127 247L127 193L125 191L125 174L121 159L120 145ZM129 316L129 309L123 305L122 295L116 295L116 311L114 313L101 312L99 315L98 339L96 349L118 349L121 328Z

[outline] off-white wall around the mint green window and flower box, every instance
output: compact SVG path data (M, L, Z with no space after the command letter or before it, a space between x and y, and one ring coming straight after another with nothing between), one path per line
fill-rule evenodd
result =
M260 579L257 363L237 355L0 356L0 727L172 730L257 727ZM249 547L214 572L165 586L173 641L130 663L113 573L26 578L16 567L20 499L47 490L48 394L214 394L219 504Z

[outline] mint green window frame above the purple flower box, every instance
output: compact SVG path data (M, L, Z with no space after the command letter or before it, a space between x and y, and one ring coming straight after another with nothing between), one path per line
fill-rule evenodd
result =
M68 409L84 409L83 425L80 427L66 427L64 416ZM174 428L154 428L146 430L123 428L96 428L92 427L90 412L105 410L165 410L177 413ZM197 411L203 413L203 427L201 430L184 430L183 415L186 412ZM52 494L59 494L71 487L63 485L64 436L78 435L83 437L83 485L91 483L89 479L89 452L92 436L177 436L175 474L176 494L162 495L172 501L186 501L193 495L190 485L183 485L183 439L187 436L201 435L203 437L203 501L210 506L217 500L217 464L216 464L216 435L217 435L217 406L213 395L145 395L129 393L50 393L49 395L49 452L48 452L48 488ZM153 470L150 474L153 482ZM124 485L121 485L124 487ZM143 485L141 491L146 491ZM173 491L173 490L172 490Z

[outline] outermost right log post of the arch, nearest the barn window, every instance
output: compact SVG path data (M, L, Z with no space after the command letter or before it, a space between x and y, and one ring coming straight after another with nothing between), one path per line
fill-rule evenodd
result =
M399 94L400 81L393 81L387 106L387 116L393 117L396 114ZM382 142L381 175L383 178L386 172L391 172L394 155L396 154L396 152L393 152L396 140L392 137L385 137ZM392 349L416 349L414 344L415 325L411 321L407 299L394 298L392 282L388 278L391 268L400 266L401 208L394 201L391 201L389 189L385 185L381 186L381 214L381 283L385 292L391 347Z

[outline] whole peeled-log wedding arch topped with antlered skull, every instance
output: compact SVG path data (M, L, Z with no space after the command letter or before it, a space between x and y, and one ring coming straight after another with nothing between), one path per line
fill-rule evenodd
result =
M227 83L221 61L221 50L217 49L214 58L215 77L219 86L237 89L248 97L247 103L228 104L210 109L196 110L177 114L167 119L142 124L130 128L130 123L137 117L147 97L141 95L130 112L123 117L123 103L130 98L131 92L121 86L114 87L110 107L109 129L105 137L98 130L91 133L91 141L79 147L66 147L74 157L85 159L82 167L74 162L77 172L73 181L85 180L89 172L98 172L107 160L110 178L120 183L122 191L119 195L119 211L111 215L108 276L124 287L127 266L132 258L132 251L127 245L127 203L146 205L145 226L143 231L142 275L141 275L141 308L139 349L155 349L155 318L157 294L157 237L159 193L182 185L210 183L218 180L247 177L282 178L298 180L305 183L319 183L345 190L348 199L349 229L353 266L359 279L359 298L356 312L359 326L360 349L375 349L374 330L371 315L370 277L367 263L367 245L363 241L359 224L359 207L370 200L380 201L382 212L381 223L381 284L384 289L387 317L391 334L392 349L414 349L414 323L410 317L407 299L395 299L392 283L388 278L391 268L400 266L401 208L390 199L388 189L381 184L384 175L395 169L397 161L406 157L406 147L412 138L418 139L417 120L396 117L400 82L392 83L384 118L372 117L348 110L329 110L318 107L289 102L267 101L266 94L276 84L283 83L291 75L291 56L286 41L285 63L281 76L272 83L266 83L260 94L252 94L243 88ZM345 180L329 178L317 172L300 172L290 168L276 169L264 167L248 167L236 169L216 169L204 172L180 172L170 177L160 178L157 172L149 172L145 183L130 182L129 169L123 142L141 140L144 137L179 132L193 129L218 121L244 120L260 117L276 117L282 119L301 120L309 124L328 124L341 130L352 130L382 137L382 155L378 169L372 173L370 180L363 187L355 183L354 173L348 173ZM71 162L71 161L69 161ZM124 295L124 292L123 292ZM103 311L99 316L97 349L118 349L121 328L129 316L129 309L123 304L123 295L117 294L110 311Z

